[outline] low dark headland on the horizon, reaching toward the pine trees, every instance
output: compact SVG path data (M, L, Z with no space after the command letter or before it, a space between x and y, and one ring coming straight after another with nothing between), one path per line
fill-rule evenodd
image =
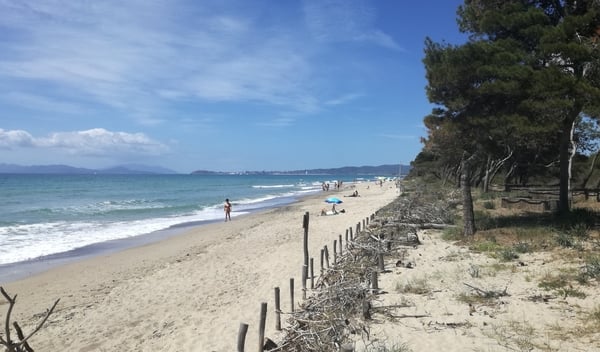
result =
M192 172L194 175L373 175L373 176L398 176L408 174L409 165L380 165L380 166L345 166L331 169L306 169L292 171L243 171L243 172L224 172L197 170Z

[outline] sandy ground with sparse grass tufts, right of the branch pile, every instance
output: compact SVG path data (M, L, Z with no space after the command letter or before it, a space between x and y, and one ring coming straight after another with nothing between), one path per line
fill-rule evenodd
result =
M598 283L561 284L583 266L576 250L504 261L443 240L439 230L419 238L386 260L369 336L355 338L356 351L377 343L405 352L600 351ZM396 266L400 258L410 268Z

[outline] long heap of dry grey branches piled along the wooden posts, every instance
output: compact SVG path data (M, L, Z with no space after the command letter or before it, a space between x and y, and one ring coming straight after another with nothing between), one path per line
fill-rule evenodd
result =
M270 350L352 350L348 345L357 339L369 344L369 321L375 311L390 319L422 317L394 316L395 307L373 307L380 291L372 274L382 270L382 255L404 258L406 248L419 245L417 229L423 224L444 226L450 218L448 208L441 201L415 194L379 210L369 226L347 243L344 255L324 271L314 294L299 310L289 313L283 341Z

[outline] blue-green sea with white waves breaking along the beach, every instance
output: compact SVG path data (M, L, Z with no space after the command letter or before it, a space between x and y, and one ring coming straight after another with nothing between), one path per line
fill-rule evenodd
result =
M0 283L322 192L360 175L0 174ZM41 264L41 265L40 265Z

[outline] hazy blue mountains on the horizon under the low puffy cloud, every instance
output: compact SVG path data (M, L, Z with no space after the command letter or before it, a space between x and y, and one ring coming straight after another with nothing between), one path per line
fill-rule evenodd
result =
M146 165L119 165L108 169L85 169L68 165L22 166L0 163L0 174L62 174L62 175L135 175L135 174L176 174L162 167Z

